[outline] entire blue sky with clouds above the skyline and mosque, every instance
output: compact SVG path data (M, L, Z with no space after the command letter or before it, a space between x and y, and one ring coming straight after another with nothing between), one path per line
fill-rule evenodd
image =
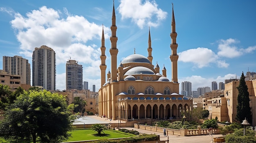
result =
M211 81L240 78L248 69L256 71L254 0L115 0L117 61L133 54L134 48L137 54L148 56L150 26L152 64L165 66L171 79L171 2L179 83L190 81L196 90L211 87ZM34 48L49 46L56 52L57 89L65 89L65 63L71 57L83 65L89 89L95 84L98 90L102 24L106 72L110 68L112 4L112 0L1 0L0 56L20 55L32 66Z

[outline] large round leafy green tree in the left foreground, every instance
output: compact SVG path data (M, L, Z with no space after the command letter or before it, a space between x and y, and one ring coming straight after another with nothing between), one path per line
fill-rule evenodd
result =
M24 91L9 106L0 122L0 135L18 142L39 139L42 143L59 143L70 137L72 113L66 99L57 93Z

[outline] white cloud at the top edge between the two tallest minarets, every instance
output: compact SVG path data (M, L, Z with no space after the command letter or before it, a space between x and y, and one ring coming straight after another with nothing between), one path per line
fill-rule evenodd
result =
M139 28L143 26L159 26L160 22L167 16L167 12L157 8L155 0L150 2L146 0L121 0L117 10L121 14L122 19L131 18Z

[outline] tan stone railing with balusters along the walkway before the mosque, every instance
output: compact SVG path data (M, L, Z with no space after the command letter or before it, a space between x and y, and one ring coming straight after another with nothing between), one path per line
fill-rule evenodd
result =
M163 132L164 128L162 127L157 127L156 126L150 126L150 125L141 125L141 124L134 124L134 128L142 129L142 130L150 130L154 132ZM209 134L209 129L202 129L200 126L198 126L197 129L193 130L188 130L188 129L169 129L165 128L166 133L168 134L173 134L173 135L180 135L180 136L200 136L200 135L206 135ZM212 134L218 134L217 129L212 129Z

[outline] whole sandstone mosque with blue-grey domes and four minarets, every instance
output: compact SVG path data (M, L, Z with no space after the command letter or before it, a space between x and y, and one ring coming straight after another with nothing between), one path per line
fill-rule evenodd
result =
M99 89L99 116L112 120L170 120L192 118L193 100L179 95L177 79L177 33L172 9L171 22L171 73L172 79L166 77L166 68L162 75L158 64L152 64L152 47L150 29L148 33L148 57L129 55L117 67L117 26L115 6L113 3L112 25L110 27L111 72L107 73L106 82L106 47L104 31L101 38L101 88ZM167 51L166 46L166 51Z

